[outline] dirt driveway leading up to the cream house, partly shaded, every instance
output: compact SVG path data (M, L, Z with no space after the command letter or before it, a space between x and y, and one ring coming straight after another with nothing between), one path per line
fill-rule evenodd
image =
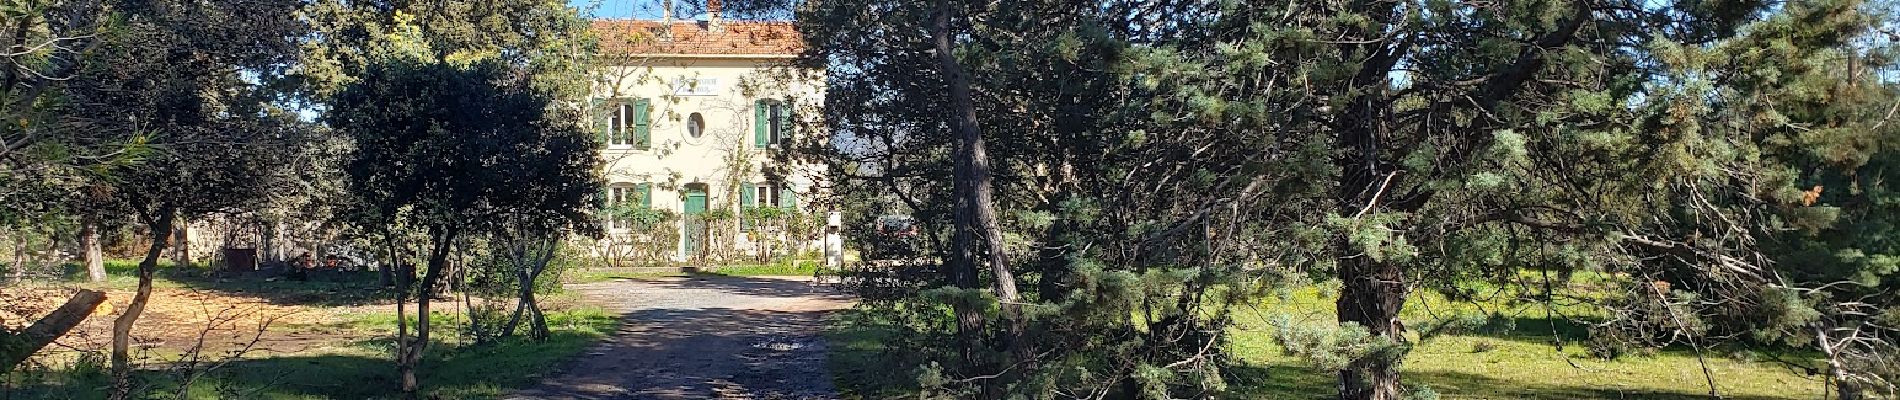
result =
M800 279L654 279L570 284L625 326L509 400L838 398L825 313L849 301Z

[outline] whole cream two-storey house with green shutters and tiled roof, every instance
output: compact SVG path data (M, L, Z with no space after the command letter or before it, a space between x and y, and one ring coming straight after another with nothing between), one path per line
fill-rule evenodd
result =
M633 264L808 250L819 165L781 161L819 135L823 72L794 68L788 21L602 19L591 129L606 142L602 252ZM770 210L770 212L760 212ZM768 224L760 216L800 216Z

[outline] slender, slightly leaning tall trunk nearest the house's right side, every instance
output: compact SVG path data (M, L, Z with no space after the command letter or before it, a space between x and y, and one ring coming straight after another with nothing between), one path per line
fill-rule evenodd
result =
M954 265L961 271L961 286L977 286L977 248L978 241L988 250L990 275L994 275L994 290L998 301L1001 301L1003 322L1007 334L1003 337L1005 347L1016 356L1018 362L1028 360L1028 343L1022 343L1022 305L1016 301L1016 279L1009 271L1009 260L1003 252L1003 233L996 222L994 188L990 176L990 154L984 148L982 129L977 125L977 106L971 95L969 76L958 63L950 32L952 23L952 2L937 2L935 17L935 42L937 42L937 63L944 74L944 82L950 85L950 112L954 116L954 129L958 136L956 154L956 256ZM965 305L967 307L967 305ZM975 317L973 309L960 309L960 328L978 328L980 317Z

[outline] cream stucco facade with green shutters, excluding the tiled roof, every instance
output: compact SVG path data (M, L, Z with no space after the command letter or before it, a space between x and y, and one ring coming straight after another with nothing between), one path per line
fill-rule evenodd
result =
M788 53L638 53L602 68L589 125L606 142L606 201L678 214L673 260L703 254L709 233L732 233L712 246L756 248L750 241L760 233L737 218L707 226L695 214L823 212L809 203L823 169L775 159L792 140L823 135L811 118L825 99L823 78L790 61ZM608 235L638 235L638 227L606 226Z

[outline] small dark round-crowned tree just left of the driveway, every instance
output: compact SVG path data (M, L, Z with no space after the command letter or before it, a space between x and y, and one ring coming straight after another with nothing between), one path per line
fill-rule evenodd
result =
M390 248L407 229L426 235L424 269L397 273L397 313L416 298L416 332L408 336L405 315L395 355L401 389L416 398L429 300L458 241L507 227L545 227L515 235L587 227L593 218L585 207L600 188L595 142L578 125L581 118L560 114L549 91L500 61L391 59L369 66L334 97L325 119L355 140L346 167L357 195L353 222L378 231ZM524 301L532 301L532 281L524 286Z

